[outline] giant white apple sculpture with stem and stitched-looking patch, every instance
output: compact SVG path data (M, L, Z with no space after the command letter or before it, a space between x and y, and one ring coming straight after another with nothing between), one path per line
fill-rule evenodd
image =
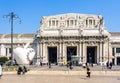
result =
M33 48L27 48L29 44L25 47L17 47L13 50L14 58L17 64L30 64L35 56L35 51Z

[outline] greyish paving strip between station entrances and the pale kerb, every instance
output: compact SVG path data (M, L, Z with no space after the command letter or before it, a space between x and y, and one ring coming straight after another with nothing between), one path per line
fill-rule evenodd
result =
M120 66L112 66L111 69L108 69L106 66L100 66L100 65L94 65L89 66L91 71L120 71ZM39 65L31 65L30 68L32 70L38 70L38 71L66 71L68 70L67 67L60 66L60 65L52 65L51 68L49 68L47 65L39 66ZM73 66L72 71L86 71L86 68L83 68L83 66Z

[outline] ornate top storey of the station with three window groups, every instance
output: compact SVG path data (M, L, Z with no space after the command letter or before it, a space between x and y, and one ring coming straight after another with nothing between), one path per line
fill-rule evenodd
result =
M69 29L69 28L98 28L104 27L103 17L99 15L78 15L78 14L63 14L56 16L43 17L41 27Z

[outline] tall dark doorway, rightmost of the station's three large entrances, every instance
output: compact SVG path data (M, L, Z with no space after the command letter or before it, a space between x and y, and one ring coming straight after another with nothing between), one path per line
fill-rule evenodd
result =
M88 46L87 47L87 63L97 63L97 47Z

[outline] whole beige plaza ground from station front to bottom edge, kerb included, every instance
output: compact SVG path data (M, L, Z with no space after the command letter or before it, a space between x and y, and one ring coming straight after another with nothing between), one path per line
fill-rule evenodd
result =
M68 70L66 66L52 65L30 66L31 70L25 75L17 75L16 71L3 72L0 83L119 83L120 66L107 69L102 66L91 68L91 78L86 78L86 69L74 66Z

